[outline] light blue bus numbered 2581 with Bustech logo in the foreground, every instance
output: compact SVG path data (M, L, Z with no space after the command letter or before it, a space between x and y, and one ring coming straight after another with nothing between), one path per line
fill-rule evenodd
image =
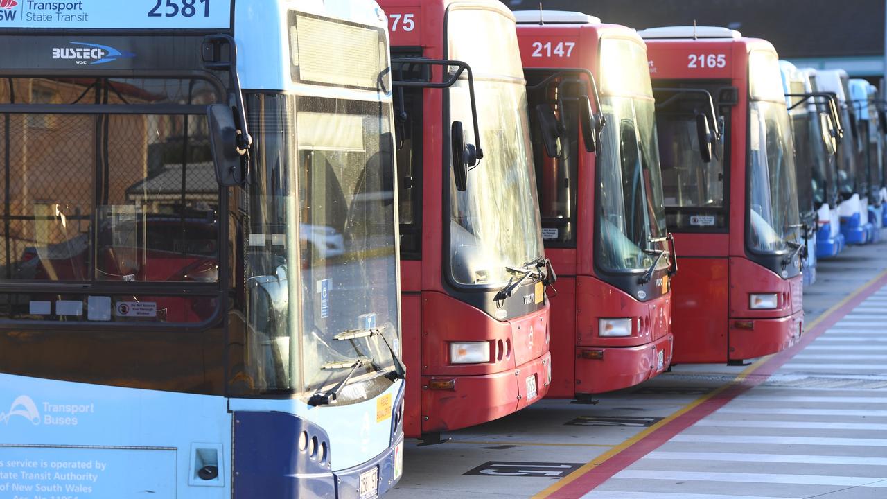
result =
M19 0L0 14L0 497L393 487L384 12Z

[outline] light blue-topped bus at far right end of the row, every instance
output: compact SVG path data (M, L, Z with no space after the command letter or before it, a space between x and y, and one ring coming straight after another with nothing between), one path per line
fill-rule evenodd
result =
M868 180L868 221L874 227L873 241L881 239L883 227L883 131L878 117L877 91L866 80L852 78L848 82L853 111L856 115L858 139L857 158Z

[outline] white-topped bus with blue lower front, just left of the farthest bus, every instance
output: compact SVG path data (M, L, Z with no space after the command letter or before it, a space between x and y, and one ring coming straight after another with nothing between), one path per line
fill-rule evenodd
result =
M866 244L875 237L875 227L868 221L868 178L860 159L860 131L850 95L849 77L843 69L816 72L819 91L834 93L840 106L840 128L845 137L838 149L838 175L841 204L841 232L847 244Z

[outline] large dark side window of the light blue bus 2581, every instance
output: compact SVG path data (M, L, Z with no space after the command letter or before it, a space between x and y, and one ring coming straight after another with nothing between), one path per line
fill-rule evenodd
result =
M217 289L219 192L206 115L196 106L219 99L214 85L4 78L0 99L20 106L0 119L0 279L44 287L4 297L0 316L208 321L215 298L174 297L161 283L190 282L210 295ZM130 114L134 105L155 111ZM27 112L35 106L43 112ZM89 291L59 295L57 283Z

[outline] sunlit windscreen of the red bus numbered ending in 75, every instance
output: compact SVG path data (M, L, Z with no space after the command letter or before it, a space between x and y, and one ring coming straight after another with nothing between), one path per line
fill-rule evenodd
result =
M459 285L490 287L508 281L506 267L520 267L544 252L521 52L514 21L499 12L452 7L447 26L449 59L464 60L474 70L484 153L468 171L467 191L450 182L451 277ZM479 33L487 43L478 44ZM463 123L466 138L473 138L467 79L448 94L450 122ZM445 164L451 171L450 162Z

